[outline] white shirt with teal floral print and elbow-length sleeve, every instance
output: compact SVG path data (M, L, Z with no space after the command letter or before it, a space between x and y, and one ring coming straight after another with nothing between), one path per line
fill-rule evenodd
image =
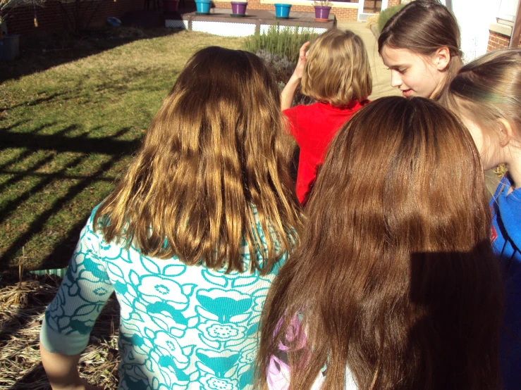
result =
M65 355L83 351L115 291L121 306L118 389L252 389L262 306L285 258L266 276L149 258L133 246L104 241L92 230L95 210L46 310L40 334L45 348ZM245 242L241 252L248 270ZM262 264L260 253L255 256Z

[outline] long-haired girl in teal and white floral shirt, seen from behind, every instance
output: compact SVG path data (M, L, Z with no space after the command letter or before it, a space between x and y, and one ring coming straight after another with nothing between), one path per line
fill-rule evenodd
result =
M92 389L78 359L113 291L118 389L250 389L257 325L300 229L278 87L245 51L180 73L116 189L94 208L47 308L56 389Z

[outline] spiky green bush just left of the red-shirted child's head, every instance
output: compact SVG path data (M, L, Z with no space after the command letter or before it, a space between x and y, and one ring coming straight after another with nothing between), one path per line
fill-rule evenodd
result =
M297 63L300 46L318 36L316 32L309 32L309 29L303 27L281 28L280 25L271 25L266 33L247 37L244 47L252 53L264 49Z

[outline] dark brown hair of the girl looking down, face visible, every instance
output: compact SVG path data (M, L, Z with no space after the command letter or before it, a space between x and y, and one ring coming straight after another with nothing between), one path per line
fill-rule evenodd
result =
M443 46L448 48L450 61L443 82L431 99L439 100L446 93L450 80L461 68L460 27L446 6L436 0L411 1L387 21L378 37L378 52L384 46L408 49L431 56Z

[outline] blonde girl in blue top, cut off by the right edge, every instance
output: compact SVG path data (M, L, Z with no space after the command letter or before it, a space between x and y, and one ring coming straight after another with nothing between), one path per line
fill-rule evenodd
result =
M490 239L501 259L506 291L500 349L503 386L517 390L521 387L521 49L493 51L465 65L450 83L448 103L470 130L483 168L500 163L508 168L490 203Z

